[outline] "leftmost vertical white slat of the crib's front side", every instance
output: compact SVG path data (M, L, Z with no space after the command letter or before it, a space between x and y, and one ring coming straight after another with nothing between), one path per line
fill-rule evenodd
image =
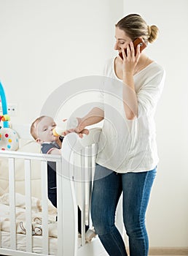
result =
M10 247L16 249L16 218L15 218L15 159L9 158L9 208L10 208Z

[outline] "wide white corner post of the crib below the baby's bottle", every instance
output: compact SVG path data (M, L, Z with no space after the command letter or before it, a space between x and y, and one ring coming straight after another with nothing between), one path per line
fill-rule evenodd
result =
M62 147L62 197L63 197L63 255L61 256L75 256L78 248L78 213L77 200L74 193L74 178L72 173L75 168L73 165L73 155L77 153L73 150L75 140L77 137L73 133L68 136L68 146ZM64 139L66 140L66 138ZM59 217L58 217L59 218ZM59 255L58 255L59 256Z

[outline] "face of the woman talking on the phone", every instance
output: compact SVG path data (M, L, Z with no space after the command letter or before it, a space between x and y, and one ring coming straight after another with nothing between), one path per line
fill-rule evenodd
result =
M128 37L125 34L125 31L123 31L122 29L119 29L118 27L116 27L116 30L115 30L115 38L116 38L116 43L114 45L114 50L118 50L119 53L122 52L122 49L127 48L127 45L129 45L130 42L132 41L130 37Z

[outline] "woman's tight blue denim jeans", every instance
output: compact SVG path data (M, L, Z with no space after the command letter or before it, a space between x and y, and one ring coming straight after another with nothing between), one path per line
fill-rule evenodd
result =
M146 256L149 241L145 226L156 168L141 173L115 173L96 165L91 202L93 226L110 256L127 256L124 241L115 226L115 212L123 193L123 220L129 238L130 256Z

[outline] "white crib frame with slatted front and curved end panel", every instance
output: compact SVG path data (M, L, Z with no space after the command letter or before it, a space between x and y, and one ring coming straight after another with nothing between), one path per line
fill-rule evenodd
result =
M101 129L91 129L90 135L79 138L71 133L63 140L62 155L28 154L24 152L1 151L0 157L9 161L9 208L10 240L9 249L1 248L1 255L49 255L47 215L47 162L56 162L57 205L58 205L58 256L76 256L78 244L77 205L82 210L82 241L85 246L85 222L90 221L90 195L92 190L95 156ZM26 252L17 251L15 212L15 159L24 159L26 193ZM42 181L42 254L32 252L31 229L31 161L41 162ZM75 192L76 191L76 192ZM87 214L86 214L87 206ZM1 240L1 239L0 239ZM1 241L0 241L1 242Z

